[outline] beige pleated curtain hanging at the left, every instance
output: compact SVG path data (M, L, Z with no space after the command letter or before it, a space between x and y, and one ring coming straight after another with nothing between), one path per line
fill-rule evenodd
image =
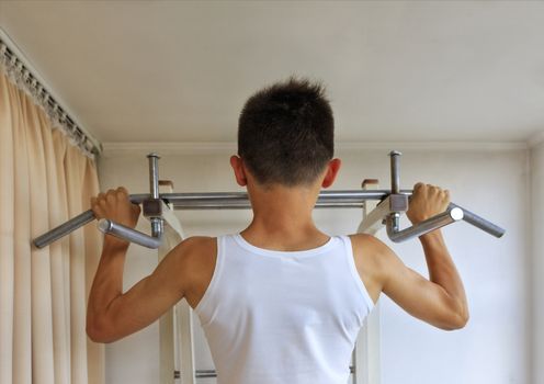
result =
M98 230L31 246L98 191L94 161L0 69L0 384L103 383L103 347L86 335Z

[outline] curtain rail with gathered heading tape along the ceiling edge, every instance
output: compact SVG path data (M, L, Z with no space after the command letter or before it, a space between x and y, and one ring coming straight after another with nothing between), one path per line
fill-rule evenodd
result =
M45 111L53 125L69 137L71 145L77 146L90 158L100 155L102 153L100 142L76 123L76 120L46 89L44 81L38 79L37 72L21 57L22 53L16 54L19 49L13 42L1 32L3 31L0 30L0 68L4 69L8 78Z

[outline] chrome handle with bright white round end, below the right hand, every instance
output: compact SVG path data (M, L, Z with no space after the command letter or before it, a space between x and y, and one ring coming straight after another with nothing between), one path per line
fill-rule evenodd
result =
M399 230L398 214L394 213L387 217L387 236L394 242L406 241L413 237L428 234L434 229L442 228L443 226L455 223L462 218L463 210L456 206L452 210L447 210L441 214L438 214L437 216L428 218L417 225Z

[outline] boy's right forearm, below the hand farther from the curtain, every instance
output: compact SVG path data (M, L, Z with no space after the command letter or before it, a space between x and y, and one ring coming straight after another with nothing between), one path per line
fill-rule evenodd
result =
M440 230L434 230L420 237L429 269L429 280L440 285L449 296L451 304L463 318L468 317L463 282L447 251Z

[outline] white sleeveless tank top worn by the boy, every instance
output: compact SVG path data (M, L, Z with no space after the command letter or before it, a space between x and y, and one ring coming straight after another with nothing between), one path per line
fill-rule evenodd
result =
M229 235L217 239L215 271L195 313L217 384L345 384L373 305L347 236L273 251Z

